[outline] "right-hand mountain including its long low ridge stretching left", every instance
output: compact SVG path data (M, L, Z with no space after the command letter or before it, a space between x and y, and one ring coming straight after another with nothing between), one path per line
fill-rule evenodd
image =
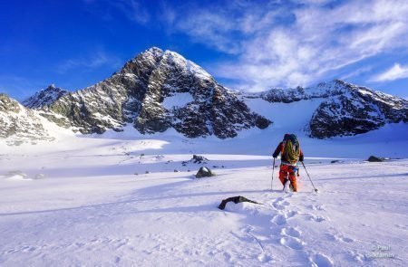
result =
M273 89L259 97L284 103L324 99L307 125L313 138L353 136L386 123L408 122L407 100L345 81L322 82L311 88Z

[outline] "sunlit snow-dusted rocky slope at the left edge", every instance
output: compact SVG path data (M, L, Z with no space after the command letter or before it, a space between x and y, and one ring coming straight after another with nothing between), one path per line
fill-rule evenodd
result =
M52 139L33 110L5 94L0 94L0 125L0 138L6 138L9 145Z

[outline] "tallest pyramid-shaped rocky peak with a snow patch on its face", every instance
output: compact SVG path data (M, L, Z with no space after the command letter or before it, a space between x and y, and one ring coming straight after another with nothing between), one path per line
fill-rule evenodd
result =
M233 138L271 123L198 65L159 48L142 52L105 81L35 108L82 133L121 131L132 123L143 134L173 128L188 138Z

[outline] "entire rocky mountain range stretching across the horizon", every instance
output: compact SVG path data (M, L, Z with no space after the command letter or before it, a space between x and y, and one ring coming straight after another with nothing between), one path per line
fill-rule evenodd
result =
M271 104L322 99L306 126L312 138L350 136L386 123L408 122L407 100L345 81L261 93L229 91L194 62L153 47L112 77L80 91L51 85L24 100L25 108L0 95L0 138L50 138L41 117L83 134L121 131L131 124L142 134L172 128L187 138L234 138L242 129L273 127L273 121L248 108L248 98Z

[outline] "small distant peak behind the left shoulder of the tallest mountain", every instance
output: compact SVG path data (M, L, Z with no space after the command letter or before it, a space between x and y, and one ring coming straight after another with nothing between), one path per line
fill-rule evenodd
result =
M59 100L68 93L69 91L65 91L51 84L44 90L35 93L34 96L24 100L22 104L29 109L38 109L51 105L54 101Z

